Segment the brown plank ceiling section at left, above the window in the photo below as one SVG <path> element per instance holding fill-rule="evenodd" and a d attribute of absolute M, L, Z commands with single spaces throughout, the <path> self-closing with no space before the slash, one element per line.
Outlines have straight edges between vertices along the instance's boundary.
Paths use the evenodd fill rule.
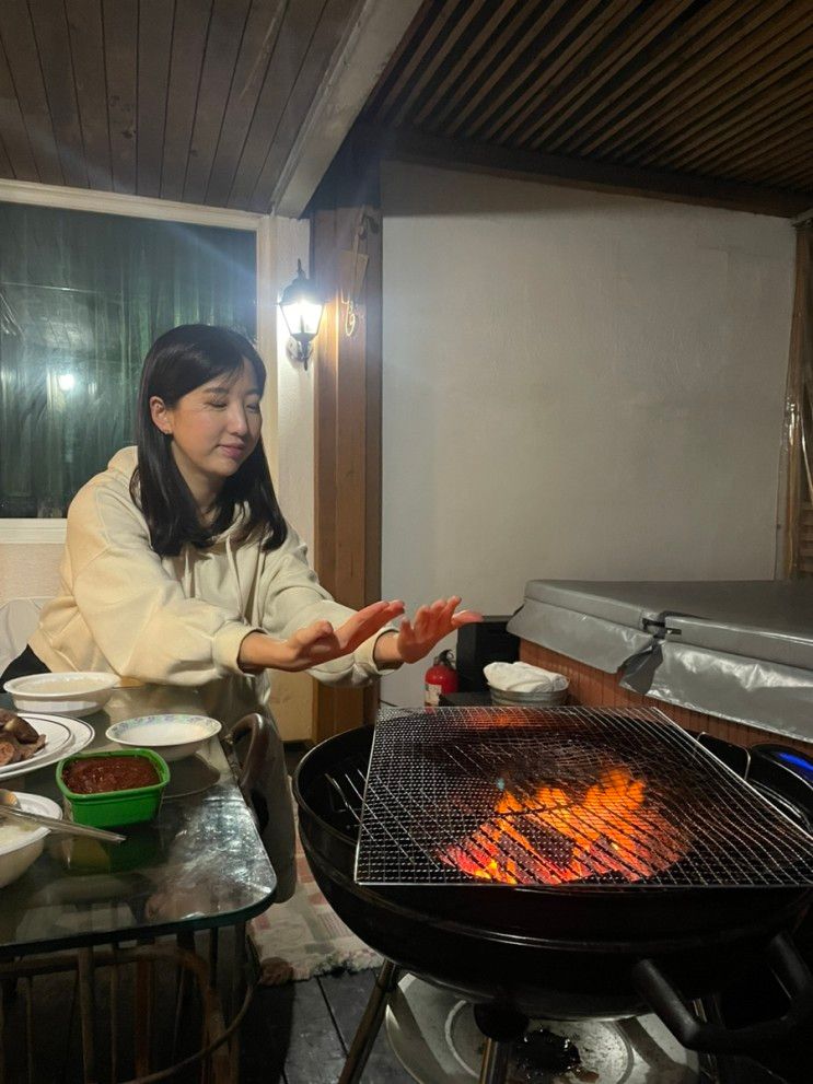
<path fill-rule="evenodd" d="M 0 0 L 0 177 L 268 211 L 358 0 Z"/>

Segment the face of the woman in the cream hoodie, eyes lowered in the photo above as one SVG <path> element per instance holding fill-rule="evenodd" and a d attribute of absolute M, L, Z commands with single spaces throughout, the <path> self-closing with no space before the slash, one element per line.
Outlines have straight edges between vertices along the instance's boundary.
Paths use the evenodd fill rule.
<path fill-rule="evenodd" d="M 175 463 L 200 508 L 211 503 L 256 447 L 263 423 L 259 395 L 254 370 L 244 361 L 236 374 L 201 384 L 174 407 L 158 396 L 150 399 L 152 420 L 172 436 Z"/>

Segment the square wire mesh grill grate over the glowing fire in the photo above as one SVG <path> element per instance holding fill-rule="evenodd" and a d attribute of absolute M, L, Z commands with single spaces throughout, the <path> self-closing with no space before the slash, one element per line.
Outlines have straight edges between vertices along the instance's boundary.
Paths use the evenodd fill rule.
<path fill-rule="evenodd" d="M 657 709 L 382 713 L 356 879 L 813 885 L 813 837 Z"/>

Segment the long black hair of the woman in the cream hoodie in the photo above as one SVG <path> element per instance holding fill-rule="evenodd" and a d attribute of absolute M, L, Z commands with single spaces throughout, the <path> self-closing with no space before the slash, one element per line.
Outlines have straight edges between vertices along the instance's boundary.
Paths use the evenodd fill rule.
<path fill-rule="evenodd" d="M 277 549 L 286 540 L 288 528 L 274 492 L 262 439 L 240 469 L 227 478 L 207 527 L 200 522 L 195 499 L 175 463 L 172 438 L 152 420 L 153 396 L 172 408 L 184 395 L 217 376 L 236 376 L 245 361 L 254 370 L 262 395 L 266 382 L 263 359 L 245 336 L 225 327 L 174 327 L 155 339 L 144 359 L 136 422 L 138 467 L 130 479 L 130 496 L 141 509 L 152 548 L 161 557 L 176 557 L 187 543 L 205 549 L 239 514 L 243 523 L 235 540 L 245 540 L 258 532 L 265 550 Z"/>

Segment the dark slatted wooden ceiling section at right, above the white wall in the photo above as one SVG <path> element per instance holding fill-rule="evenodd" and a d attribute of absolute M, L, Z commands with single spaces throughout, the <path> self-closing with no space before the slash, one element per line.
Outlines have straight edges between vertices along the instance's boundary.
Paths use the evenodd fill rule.
<path fill-rule="evenodd" d="M 813 0 L 429 0 L 370 126 L 813 203 Z"/>

